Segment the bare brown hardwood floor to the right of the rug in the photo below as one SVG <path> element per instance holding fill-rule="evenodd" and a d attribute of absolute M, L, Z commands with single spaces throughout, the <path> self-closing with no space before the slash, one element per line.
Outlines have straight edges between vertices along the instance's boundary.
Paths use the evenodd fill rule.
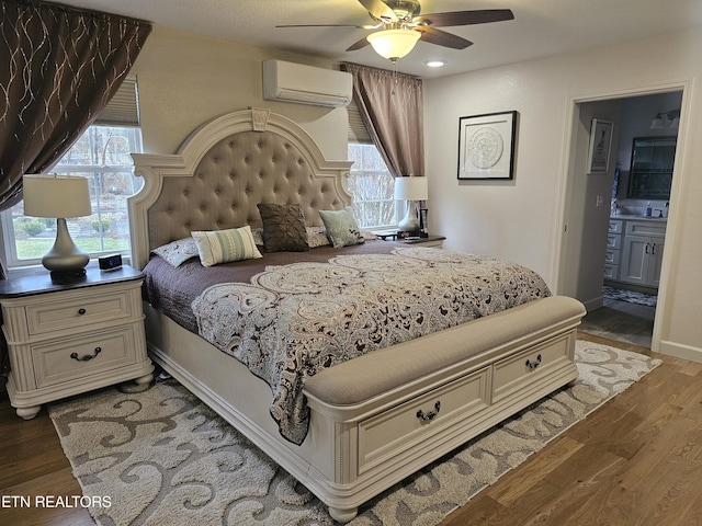
<path fill-rule="evenodd" d="M 442 526 L 701 525 L 702 364 L 656 357 L 664 364 Z"/>

